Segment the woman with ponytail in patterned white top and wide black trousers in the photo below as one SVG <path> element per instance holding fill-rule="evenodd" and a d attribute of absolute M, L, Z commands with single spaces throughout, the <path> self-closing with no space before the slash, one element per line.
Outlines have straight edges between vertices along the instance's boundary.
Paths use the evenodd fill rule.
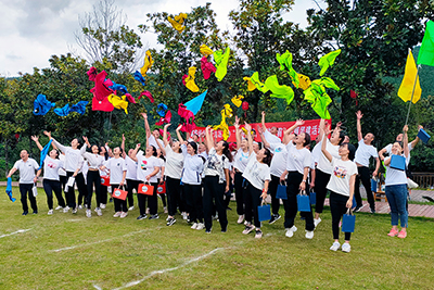
<path fill-rule="evenodd" d="M 225 193 L 229 191 L 229 163 L 232 162 L 232 154 L 229 151 L 229 143 L 225 140 L 214 146 L 213 130 L 205 128 L 206 147 L 209 149 L 208 159 L 204 166 L 204 193 L 203 209 L 205 219 L 205 232 L 210 234 L 213 227 L 213 205 L 215 202 L 216 211 L 220 222 L 221 232 L 228 229 L 228 217 Z"/>

